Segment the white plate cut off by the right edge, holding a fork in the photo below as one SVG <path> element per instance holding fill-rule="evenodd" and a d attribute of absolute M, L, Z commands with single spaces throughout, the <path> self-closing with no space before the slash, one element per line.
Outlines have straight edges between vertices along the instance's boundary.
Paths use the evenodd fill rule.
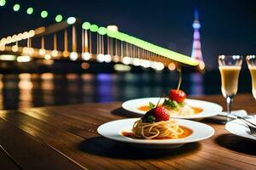
<path fill-rule="evenodd" d="M 256 123 L 255 119 L 247 119 L 248 121 Z M 225 128 L 230 133 L 236 134 L 237 136 L 241 136 L 247 139 L 253 139 L 256 140 L 256 137 L 253 137 L 250 135 L 250 130 L 243 122 L 241 122 L 239 119 L 227 122 L 225 125 Z"/>

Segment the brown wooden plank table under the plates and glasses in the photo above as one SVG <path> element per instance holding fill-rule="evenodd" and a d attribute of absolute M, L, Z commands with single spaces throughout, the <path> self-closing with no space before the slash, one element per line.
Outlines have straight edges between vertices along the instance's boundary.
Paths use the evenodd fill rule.
<path fill-rule="evenodd" d="M 225 106 L 220 95 L 205 99 Z M 104 122 L 135 117 L 120 102 L 0 111 L 0 169 L 256 169 L 256 143 L 206 122 L 210 139 L 173 150 L 143 150 L 104 139 Z M 233 109 L 256 113 L 251 94 L 234 99 Z M 9 155 L 9 156 L 8 156 Z"/>

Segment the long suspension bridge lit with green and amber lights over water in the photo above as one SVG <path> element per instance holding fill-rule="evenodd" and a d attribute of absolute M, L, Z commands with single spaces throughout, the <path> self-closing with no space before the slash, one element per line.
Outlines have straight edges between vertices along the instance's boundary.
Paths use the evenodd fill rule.
<path fill-rule="evenodd" d="M 0 6 L 7 3 L 0 0 Z M 19 10 L 19 4 L 13 9 Z M 27 14 L 32 8 L 27 8 Z M 42 18 L 48 12 L 42 11 Z M 75 17 L 29 31 L 15 33 L 0 39 L 0 60 L 29 62 L 32 59 L 84 60 L 100 63 L 119 63 L 143 66 L 161 71 L 173 71 L 182 66 L 192 66 L 203 71 L 205 64 L 184 54 L 162 48 L 138 37 L 119 31 L 117 26 L 98 26 Z"/>

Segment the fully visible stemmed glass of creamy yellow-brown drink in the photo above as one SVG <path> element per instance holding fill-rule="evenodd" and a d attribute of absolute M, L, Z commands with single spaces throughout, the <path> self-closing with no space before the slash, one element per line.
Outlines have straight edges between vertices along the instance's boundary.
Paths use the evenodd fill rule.
<path fill-rule="evenodd" d="M 231 104 L 238 89 L 238 77 L 241 70 L 242 56 L 219 55 L 218 69 L 221 76 L 221 92 L 227 102 L 228 115 L 231 114 Z M 229 119 L 228 119 L 229 121 Z"/>

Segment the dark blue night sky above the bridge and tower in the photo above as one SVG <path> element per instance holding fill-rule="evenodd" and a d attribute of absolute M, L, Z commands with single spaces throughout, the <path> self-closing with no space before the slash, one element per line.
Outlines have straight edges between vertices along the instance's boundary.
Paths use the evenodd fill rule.
<path fill-rule="evenodd" d="M 192 22 L 198 8 L 201 21 L 201 48 L 207 68 L 217 66 L 218 54 L 256 54 L 256 10 L 253 1 L 189 0 L 36 0 L 7 1 L 0 7 L 0 37 L 55 23 L 55 14 L 75 16 L 99 26 L 116 25 L 119 31 L 191 54 Z M 20 3 L 15 13 L 12 6 Z M 32 6 L 34 14 L 26 14 Z M 48 19 L 40 11 L 48 10 Z"/>

